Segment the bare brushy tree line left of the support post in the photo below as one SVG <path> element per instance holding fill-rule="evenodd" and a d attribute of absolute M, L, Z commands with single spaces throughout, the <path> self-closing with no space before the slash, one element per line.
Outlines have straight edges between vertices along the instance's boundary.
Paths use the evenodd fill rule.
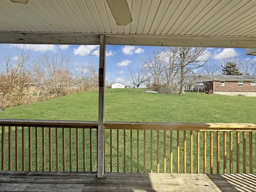
<path fill-rule="evenodd" d="M 1 109 L 98 88 L 98 70 L 93 64 L 80 63 L 74 69 L 65 55 L 36 55 L 29 45 L 8 45 L 1 65 Z"/>

